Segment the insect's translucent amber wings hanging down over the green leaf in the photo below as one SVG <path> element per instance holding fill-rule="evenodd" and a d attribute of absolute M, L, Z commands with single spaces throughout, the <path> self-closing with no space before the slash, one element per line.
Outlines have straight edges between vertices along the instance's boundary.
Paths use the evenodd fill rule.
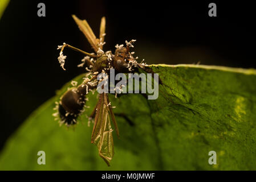
<path fill-rule="evenodd" d="M 116 131 L 118 133 L 115 116 L 113 116 L 112 109 L 108 100 L 108 95 L 105 93 L 100 94 L 99 101 L 96 105 L 96 114 L 94 121 L 94 128 L 92 129 L 92 139 L 91 142 L 96 144 L 99 155 L 104 161 L 108 164 L 112 160 L 114 155 L 114 145 L 113 145 L 113 136 L 111 128 L 111 121 L 109 114 L 111 114 L 111 118 L 115 123 Z M 114 117 L 114 118 L 113 118 Z"/>

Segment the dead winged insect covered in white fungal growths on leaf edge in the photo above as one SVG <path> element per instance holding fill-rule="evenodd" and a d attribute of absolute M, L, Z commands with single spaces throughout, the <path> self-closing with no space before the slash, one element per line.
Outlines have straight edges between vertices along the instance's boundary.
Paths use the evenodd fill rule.
<path fill-rule="evenodd" d="M 94 53 L 84 52 L 81 49 L 70 46 L 69 44 L 63 43 L 62 46 L 58 46 L 60 54 L 58 61 L 60 67 L 64 70 L 64 63 L 67 56 L 63 55 L 64 48 L 71 48 L 75 51 L 81 52 L 85 55 L 82 63 L 78 67 L 86 67 L 86 71 L 89 73 L 91 78 L 84 78 L 82 84 L 77 85 L 73 82 L 73 87 L 68 89 L 61 97 L 60 101 L 56 102 L 56 113 L 54 116 L 59 119 L 60 125 L 66 126 L 75 125 L 79 115 L 83 114 L 84 106 L 86 106 L 86 95 L 88 92 L 97 88 L 97 85 L 102 80 L 97 80 L 97 75 L 100 73 L 109 74 L 109 69 L 113 68 L 119 73 L 131 73 L 135 72 L 138 68 L 143 69 L 146 72 L 151 73 L 150 68 L 145 63 L 137 63 L 136 58 L 133 57 L 134 52 L 130 52 L 133 48 L 133 43 L 136 40 L 130 42 L 125 41 L 126 46 L 121 44 L 116 45 L 115 53 L 111 51 L 103 51 L 104 36 L 105 36 L 105 17 L 101 18 L 100 23 L 100 34 L 99 38 L 96 38 L 91 27 L 86 20 L 80 20 L 75 15 L 72 15 L 76 24 L 86 36 L 90 43 Z M 92 129 L 91 143 L 94 143 L 98 150 L 101 158 L 109 166 L 110 161 L 113 158 L 113 136 L 111 120 L 115 126 L 115 131 L 119 137 L 119 129 L 113 114 L 111 102 L 108 99 L 108 93 L 99 94 L 99 100 L 97 101 L 96 107 L 89 119 L 94 118 L 94 127 Z"/>

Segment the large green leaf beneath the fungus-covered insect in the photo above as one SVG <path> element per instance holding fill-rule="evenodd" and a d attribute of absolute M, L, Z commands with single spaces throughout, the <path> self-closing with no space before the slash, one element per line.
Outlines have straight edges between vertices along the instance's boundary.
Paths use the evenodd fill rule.
<path fill-rule="evenodd" d="M 111 167 L 91 144 L 87 126 L 96 94 L 74 130 L 52 117 L 70 83 L 40 106 L 10 137 L 0 169 L 23 170 L 247 170 L 256 169 L 256 71 L 205 65 L 152 65 L 162 85 L 159 98 L 109 95 L 120 139 L 114 135 Z M 83 75 L 74 80 L 81 82 Z M 125 116 L 122 117 L 121 115 Z M 127 121 L 128 118 L 129 122 Z M 133 125 L 131 125 L 131 123 Z M 38 165 L 38 151 L 46 165 Z M 216 151 L 217 165 L 210 165 Z"/>

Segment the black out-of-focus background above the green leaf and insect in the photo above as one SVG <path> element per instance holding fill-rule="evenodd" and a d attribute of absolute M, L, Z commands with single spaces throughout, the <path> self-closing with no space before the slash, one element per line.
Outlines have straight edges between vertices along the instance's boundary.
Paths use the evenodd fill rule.
<path fill-rule="evenodd" d="M 37 16 L 39 2 L 46 17 Z M 57 60 L 63 42 L 92 52 L 71 14 L 87 19 L 96 36 L 106 16 L 104 50 L 137 39 L 136 56 L 148 64 L 256 68 L 254 6 L 213 2 L 217 17 L 208 16 L 210 1 L 11 1 L 0 20 L 0 149 L 36 107 L 83 73 L 80 53 L 65 49 L 67 71 Z"/>

